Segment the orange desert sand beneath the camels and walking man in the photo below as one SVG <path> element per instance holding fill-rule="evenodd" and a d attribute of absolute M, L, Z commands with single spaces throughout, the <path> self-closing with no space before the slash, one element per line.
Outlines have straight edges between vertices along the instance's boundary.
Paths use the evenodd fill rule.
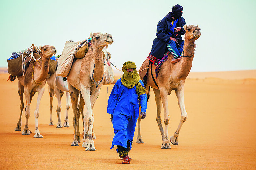
<path fill-rule="evenodd" d="M 40 104 L 39 130 L 43 138 L 33 138 L 34 110 L 37 93 L 31 103 L 29 128 L 31 135 L 14 131 L 19 119 L 18 80 L 7 81 L 8 73 L 0 74 L 0 169 L 256 169 L 256 71 L 190 73 L 186 80 L 185 106 L 188 119 L 184 123 L 179 145 L 160 149 L 161 135 L 156 123 L 153 90 L 141 133 L 144 144 L 137 144 L 137 129 L 129 156 L 131 164 L 121 164 L 115 149 L 110 149 L 114 135 L 107 114 L 107 94 L 113 84 L 102 86 L 94 107 L 94 140 L 96 151 L 86 152 L 73 141 L 73 111 L 69 112 L 69 128 L 55 128 L 57 100 L 53 103 L 53 122 L 49 126 L 50 101 L 48 86 Z M 169 137 L 180 120 L 175 92 L 168 96 Z M 65 95 L 61 121 L 64 123 Z M 163 110 L 163 109 L 162 109 Z M 163 112 L 163 111 L 162 111 Z M 163 117 L 163 113 L 162 113 Z M 162 118 L 163 120 L 163 118 Z M 82 122 L 80 120 L 80 132 Z"/>

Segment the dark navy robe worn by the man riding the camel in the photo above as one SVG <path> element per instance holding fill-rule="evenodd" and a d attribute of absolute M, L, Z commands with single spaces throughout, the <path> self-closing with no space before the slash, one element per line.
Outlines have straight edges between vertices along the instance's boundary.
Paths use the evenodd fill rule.
<path fill-rule="evenodd" d="M 185 24 L 186 24 L 185 19 L 183 17 L 179 17 L 176 27 L 181 27 L 181 30 L 179 31 L 181 35 L 185 34 L 185 30 L 183 28 Z M 155 40 L 153 41 L 153 45 L 151 49 L 152 56 L 160 59 L 164 57 L 164 52 L 166 51 L 167 43 L 171 37 L 167 32 L 168 29 L 170 28 L 171 28 L 171 21 L 167 20 L 166 17 L 164 17 L 161 21 L 158 22 L 157 28 L 156 28 L 157 38 L 155 38 Z M 182 40 L 181 35 L 178 38 Z"/>

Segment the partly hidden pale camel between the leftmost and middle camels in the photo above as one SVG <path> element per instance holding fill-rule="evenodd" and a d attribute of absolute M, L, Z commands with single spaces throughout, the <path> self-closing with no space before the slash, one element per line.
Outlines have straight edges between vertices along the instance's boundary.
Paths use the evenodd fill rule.
<path fill-rule="evenodd" d="M 57 100 L 58 100 L 58 106 L 57 106 L 57 117 L 58 117 L 58 123 L 56 128 L 62 128 L 61 125 L 61 98 L 66 92 L 66 111 L 65 111 L 65 120 L 64 120 L 64 127 L 69 127 L 68 123 L 68 111 L 70 108 L 70 95 L 68 91 L 67 81 L 63 81 L 63 78 L 56 75 L 56 70 L 53 74 L 49 74 L 47 77 L 47 84 L 48 84 L 48 91 L 50 96 L 50 123 L 49 125 L 53 125 L 52 121 L 52 100 L 54 94 L 56 94 Z"/>

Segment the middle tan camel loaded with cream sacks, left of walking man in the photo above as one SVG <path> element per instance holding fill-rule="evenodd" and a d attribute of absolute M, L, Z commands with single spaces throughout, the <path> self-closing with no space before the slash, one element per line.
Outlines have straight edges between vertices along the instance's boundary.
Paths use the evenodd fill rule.
<path fill-rule="evenodd" d="M 113 43 L 112 36 L 108 33 L 91 33 L 91 44 L 86 55 L 81 59 L 75 59 L 67 76 L 68 89 L 74 113 L 74 141 L 71 146 L 79 146 L 79 118 L 80 112 L 86 105 L 87 112 L 84 115 L 83 145 L 86 151 L 95 151 L 93 141 L 93 105 L 100 93 L 104 82 L 104 55 L 102 49 Z M 75 56 L 76 58 L 76 56 Z M 78 105 L 78 97 L 80 102 Z"/>

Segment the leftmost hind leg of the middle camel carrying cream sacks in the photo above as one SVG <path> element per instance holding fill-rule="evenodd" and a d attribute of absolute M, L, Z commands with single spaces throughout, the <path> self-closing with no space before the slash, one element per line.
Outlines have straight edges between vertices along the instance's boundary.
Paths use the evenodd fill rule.
<path fill-rule="evenodd" d="M 78 104 L 78 95 L 79 92 L 76 88 L 74 88 L 72 85 L 68 83 L 68 89 L 73 109 L 73 126 L 74 126 L 74 141 L 71 143 L 71 146 L 79 146 L 77 141 L 77 125 L 79 122 L 77 122 L 77 104 Z"/>

